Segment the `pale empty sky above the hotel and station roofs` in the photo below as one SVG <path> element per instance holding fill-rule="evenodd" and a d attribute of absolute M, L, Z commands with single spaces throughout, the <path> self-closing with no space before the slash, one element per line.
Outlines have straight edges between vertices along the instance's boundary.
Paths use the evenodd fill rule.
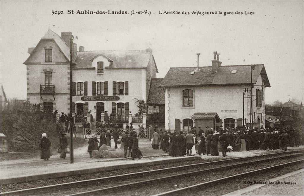
<path fill-rule="evenodd" d="M 151 15 L 131 15 L 132 10 Z M 1 1 L 0 15 L 0 80 L 8 98 L 26 99 L 27 49 L 50 28 L 58 35 L 72 32 L 78 36 L 74 42 L 85 50 L 152 48 L 157 77 L 164 77 L 170 67 L 196 66 L 196 53 L 201 53 L 200 66 L 211 66 L 213 51 L 220 53 L 223 66 L 264 64 L 271 84 L 265 90 L 266 104 L 303 100 L 303 1 Z"/>

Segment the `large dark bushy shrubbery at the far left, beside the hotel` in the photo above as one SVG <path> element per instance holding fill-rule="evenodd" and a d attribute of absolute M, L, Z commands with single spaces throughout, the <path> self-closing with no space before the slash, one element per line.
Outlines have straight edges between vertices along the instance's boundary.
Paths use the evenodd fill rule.
<path fill-rule="evenodd" d="M 24 103 L 10 102 L 1 111 L 1 133 L 7 136 L 9 151 L 32 151 L 39 149 L 42 133 L 46 133 L 51 141 L 51 151 L 59 146 L 60 132 L 63 130 L 56 124 L 52 113 L 33 109 Z"/>

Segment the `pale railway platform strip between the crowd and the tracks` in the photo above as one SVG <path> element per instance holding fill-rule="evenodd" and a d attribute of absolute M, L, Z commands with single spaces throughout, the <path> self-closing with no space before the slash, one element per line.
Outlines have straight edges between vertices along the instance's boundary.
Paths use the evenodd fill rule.
<path fill-rule="evenodd" d="M 303 146 L 300 147 L 291 147 L 290 150 L 296 149 L 303 149 Z M 150 150 L 150 149 L 149 149 Z M 153 149 L 152 149 L 153 150 Z M 209 161 L 215 160 L 223 160 L 223 159 L 230 159 L 230 158 L 237 158 L 237 157 L 246 157 L 246 156 L 255 156 L 255 155 L 263 155 L 268 153 L 274 152 L 283 152 L 282 150 L 250 150 L 244 152 L 231 152 L 227 153 L 226 157 L 221 156 L 190 156 L 190 157 L 171 157 L 168 154 L 162 153 L 162 150 L 154 150 L 155 153 L 150 153 L 149 155 L 146 154 L 140 160 L 132 160 L 132 159 L 125 159 L 125 158 L 112 158 L 112 159 L 92 159 L 88 157 L 88 153 L 85 153 L 85 158 L 81 158 L 82 160 L 86 161 L 75 161 L 73 164 L 69 164 L 69 157 L 63 161 L 60 160 L 59 155 L 51 157 L 53 162 L 44 161 L 41 159 L 30 159 L 30 160 L 11 160 L 11 161 L 2 161 L 1 165 L 1 173 L 0 173 L 0 180 L 6 181 L 9 179 L 24 179 L 31 180 L 31 177 L 38 177 L 45 176 L 46 178 L 57 177 L 60 175 L 68 176 L 68 175 L 77 175 L 80 174 L 81 171 L 83 174 L 84 172 L 92 172 L 92 170 L 96 170 L 99 168 L 100 171 L 102 170 L 112 170 L 118 168 L 126 168 L 126 167 L 136 167 L 136 165 L 153 165 L 154 163 L 165 163 L 178 161 L 180 159 L 206 159 Z M 60 161 L 56 161 L 60 160 Z M 76 159 L 77 160 L 77 159 Z M 33 178 L 35 179 L 35 178 Z"/>

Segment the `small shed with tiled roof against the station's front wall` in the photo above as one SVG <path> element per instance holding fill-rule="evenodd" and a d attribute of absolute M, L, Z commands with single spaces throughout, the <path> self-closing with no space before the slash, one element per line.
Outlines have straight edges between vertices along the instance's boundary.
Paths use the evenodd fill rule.
<path fill-rule="evenodd" d="M 217 127 L 222 124 L 216 112 L 197 112 L 194 113 L 191 118 L 194 119 L 195 126 L 201 127 L 202 129 L 209 126 L 213 128 L 213 130 L 216 130 Z"/>

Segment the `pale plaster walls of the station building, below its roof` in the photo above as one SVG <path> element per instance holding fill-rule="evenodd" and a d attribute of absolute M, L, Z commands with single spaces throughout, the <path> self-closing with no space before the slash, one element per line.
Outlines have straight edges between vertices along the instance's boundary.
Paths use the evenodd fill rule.
<path fill-rule="evenodd" d="M 257 79 L 257 83 L 252 88 L 253 96 L 253 126 L 263 126 L 264 120 L 262 113 L 264 114 L 264 83 L 261 75 Z M 183 119 L 191 119 L 195 112 L 217 112 L 219 118 L 224 125 L 224 119 L 235 119 L 235 127 L 237 126 L 237 119 L 243 118 L 243 92 L 248 88 L 250 91 L 250 85 L 210 85 L 210 86 L 189 86 L 189 87 L 166 87 L 165 89 L 165 128 L 174 129 L 175 119 L 179 119 L 181 124 L 180 128 L 183 129 Z M 262 105 L 256 107 L 255 104 L 255 89 L 260 89 L 263 92 Z M 182 106 L 182 91 L 186 89 L 193 90 L 193 106 Z M 247 97 L 247 98 L 246 98 Z M 226 110 L 224 112 L 223 110 Z M 227 110 L 234 110 L 233 112 L 227 112 Z M 236 110 L 236 112 L 235 112 Z M 222 112 L 223 111 L 223 112 Z M 256 112 L 254 115 L 254 112 Z M 263 116 L 264 117 L 264 116 Z M 247 123 L 250 123 L 250 93 L 245 94 L 244 103 L 244 118 L 247 119 Z M 257 124 L 260 120 L 259 125 Z M 245 124 L 245 123 L 244 123 Z M 193 126 L 195 121 L 193 120 Z M 225 127 L 224 127 L 225 128 Z"/>

